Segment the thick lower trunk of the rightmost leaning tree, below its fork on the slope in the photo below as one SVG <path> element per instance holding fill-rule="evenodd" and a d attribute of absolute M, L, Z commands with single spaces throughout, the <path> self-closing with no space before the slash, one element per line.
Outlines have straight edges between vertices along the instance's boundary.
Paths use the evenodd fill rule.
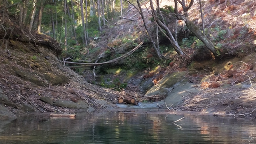
<path fill-rule="evenodd" d="M 216 50 L 214 48 L 214 44 L 200 31 L 200 29 L 190 20 L 188 20 L 188 18 L 186 19 L 186 26 L 188 27 L 188 29 L 194 34 L 196 35 L 196 37 L 201 40 L 204 45 L 213 53 L 216 54 Z"/>

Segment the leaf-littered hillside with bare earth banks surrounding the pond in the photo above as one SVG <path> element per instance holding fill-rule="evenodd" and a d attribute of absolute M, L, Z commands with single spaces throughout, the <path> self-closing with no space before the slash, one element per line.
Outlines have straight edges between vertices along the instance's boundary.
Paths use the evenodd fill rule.
<path fill-rule="evenodd" d="M 142 2 L 148 34 L 159 45 L 161 59 L 148 38 L 136 2 L 132 4 L 124 4 L 122 16 L 119 13 L 108 16 L 102 30 L 95 26 L 96 15 L 90 17 L 89 32 L 92 30 L 94 35 L 88 34 L 87 46 L 82 36 L 77 37 L 79 44 L 75 44 L 73 31 L 70 39 L 65 38 L 70 33 L 64 31 L 54 39 L 50 25 L 46 25 L 47 12 L 42 24 L 43 30 L 49 32 L 43 34 L 27 30 L 25 25 L 21 27 L 18 14 L 9 14 L 7 12 L 14 10 L 0 6 L 0 110 L 14 114 L 72 114 L 76 109 L 93 111 L 116 107 L 118 98 L 128 96 L 136 99 L 136 103 L 159 102 L 154 103 L 156 108 L 167 106 L 174 110 L 254 116 L 255 2 L 202 1 L 204 32 L 214 44 L 216 54 L 206 48 L 186 23 L 163 16 L 188 56 L 177 54 L 165 32 L 156 29 L 150 3 Z M 162 1 L 160 4 L 164 10 L 170 6 L 174 7 L 174 3 Z M 178 12 L 183 14 L 180 5 Z M 77 17 L 80 18 L 79 14 Z M 201 29 L 198 1 L 188 10 L 188 19 Z M 62 28 L 63 22 L 62 19 Z M 82 33 L 80 28 L 81 25 L 76 30 Z M 66 40 L 68 46 L 62 40 Z M 134 53 L 116 62 L 82 67 L 72 64 L 107 62 L 124 56 L 141 42 L 143 45 Z M 0 115 L 0 119 L 12 117 L 8 114 Z"/>

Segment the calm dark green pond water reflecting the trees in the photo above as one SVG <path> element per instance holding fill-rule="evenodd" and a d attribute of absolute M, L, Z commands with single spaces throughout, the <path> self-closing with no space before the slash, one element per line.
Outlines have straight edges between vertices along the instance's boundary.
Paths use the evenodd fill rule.
<path fill-rule="evenodd" d="M 26 116 L 4 126 L 0 144 L 253 144 L 255 124 L 245 118 L 158 110 L 97 112 L 76 119 Z"/>

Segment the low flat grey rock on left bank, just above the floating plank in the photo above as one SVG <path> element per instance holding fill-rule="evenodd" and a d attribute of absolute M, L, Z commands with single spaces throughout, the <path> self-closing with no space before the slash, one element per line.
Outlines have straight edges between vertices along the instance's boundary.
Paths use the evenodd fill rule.
<path fill-rule="evenodd" d="M 82 100 L 79 100 L 78 103 L 69 101 L 69 100 L 56 100 L 53 101 L 53 104 L 56 106 L 61 106 L 64 108 L 77 108 L 77 109 L 88 109 L 89 106 L 86 102 L 82 102 Z"/>

